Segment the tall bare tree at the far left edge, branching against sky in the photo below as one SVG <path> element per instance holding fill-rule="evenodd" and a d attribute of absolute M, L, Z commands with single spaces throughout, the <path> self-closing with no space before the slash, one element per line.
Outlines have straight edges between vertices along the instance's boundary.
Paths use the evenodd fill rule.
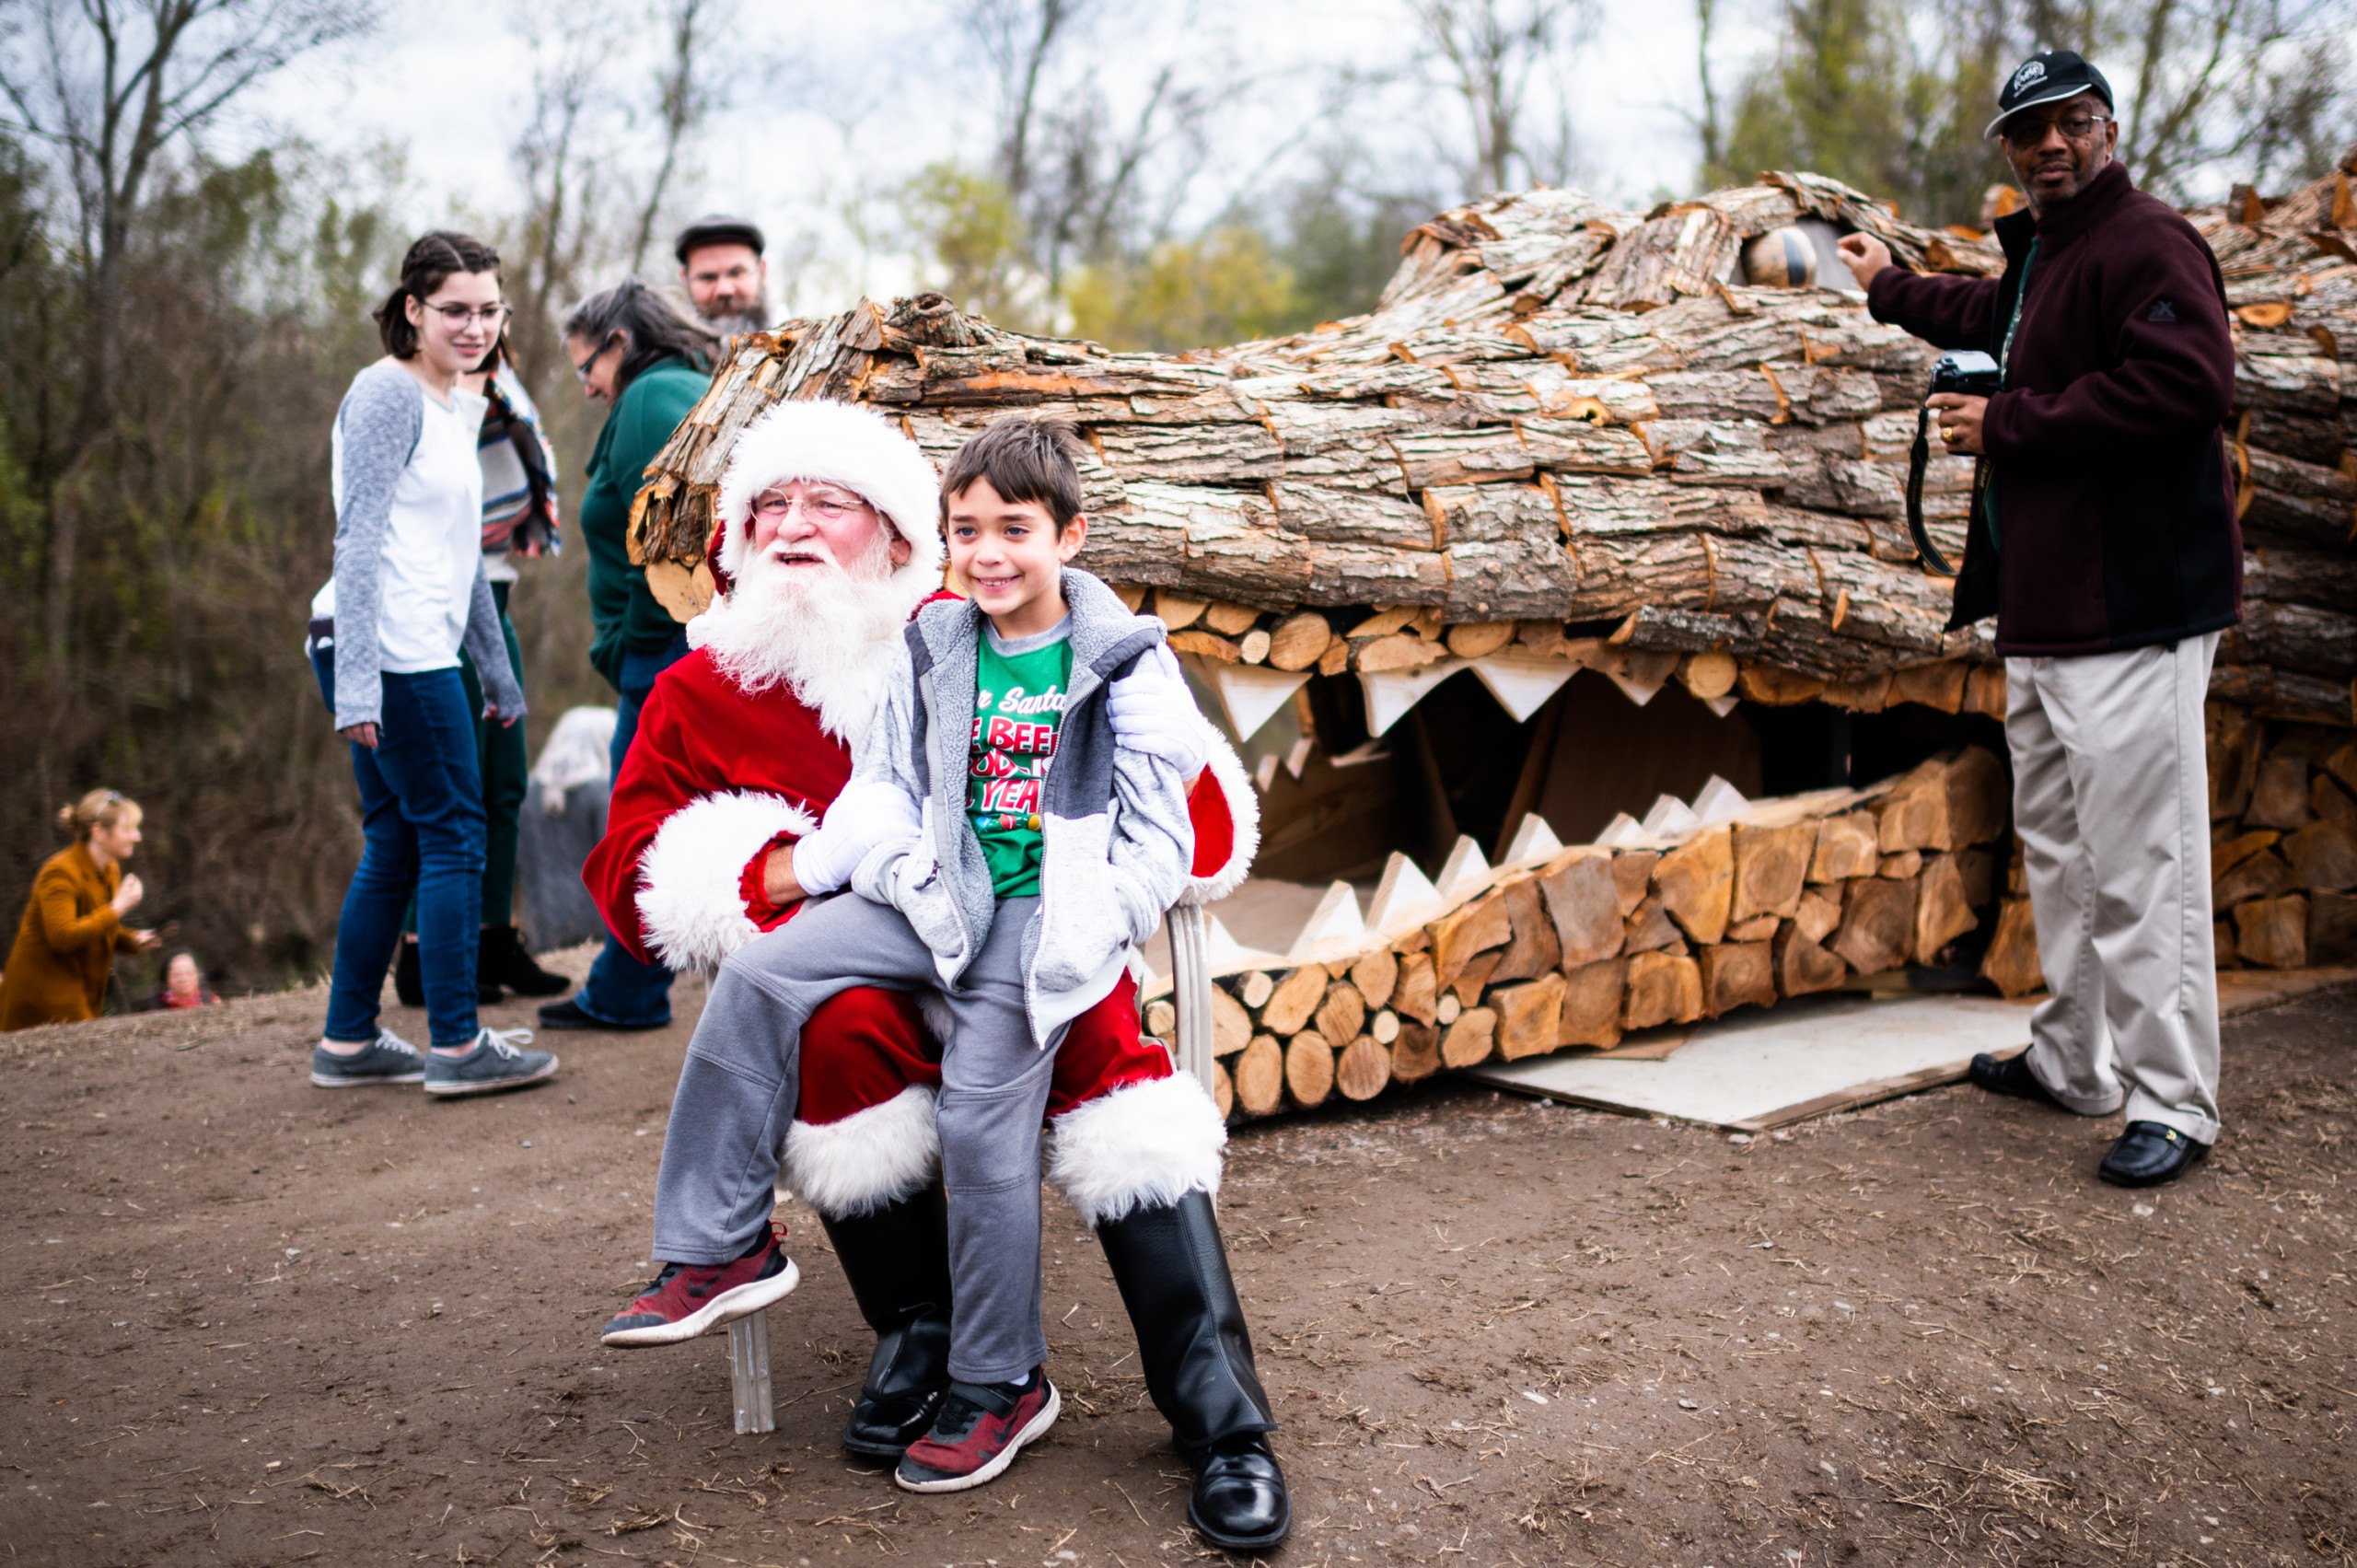
<path fill-rule="evenodd" d="M 240 94 L 375 21 L 370 0 L 31 0 L 0 31 L 9 130 L 47 146 L 73 198 L 80 271 L 75 410 L 54 467 L 47 651 L 73 625 L 78 502 L 71 479 L 115 427 L 125 257 L 158 163 Z"/>

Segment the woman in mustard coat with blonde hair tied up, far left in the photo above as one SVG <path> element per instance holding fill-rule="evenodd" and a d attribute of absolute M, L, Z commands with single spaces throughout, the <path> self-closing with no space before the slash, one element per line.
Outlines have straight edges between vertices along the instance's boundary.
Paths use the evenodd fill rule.
<path fill-rule="evenodd" d="M 33 877 L 16 946 L 0 974 L 0 1033 L 97 1019 L 115 953 L 158 946 L 153 931 L 123 924 L 146 891 L 139 877 L 123 875 L 139 844 L 139 804 L 92 790 L 59 811 L 57 825 L 73 830 L 73 844 Z"/>

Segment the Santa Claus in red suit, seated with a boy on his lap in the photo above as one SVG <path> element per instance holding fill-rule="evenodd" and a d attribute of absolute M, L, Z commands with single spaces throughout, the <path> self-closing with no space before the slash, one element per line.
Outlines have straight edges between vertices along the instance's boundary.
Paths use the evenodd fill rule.
<path fill-rule="evenodd" d="M 780 498 L 794 505 L 754 549 L 764 498 L 773 514 Z M 851 778 L 893 639 L 943 580 L 933 467 L 865 408 L 797 401 L 761 415 L 735 443 L 719 516 L 709 559 L 724 592 L 688 622 L 688 658 L 639 714 L 606 839 L 585 868 L 625 946 L 702 971 L 801 908 L 797 856 L 813 884 L 832 884 L 813 863 L 856 858 L 820 818 Z M 1235 755 L 1174 665 L 1143 663 L 1115 684 L 1110 710 L 1122 745 L 1202 771 L 1186 898 L 1228 894 L 1259 842 Z M 940 1045 L 910 995 L 846 990 L 801 1033 L 780 1179 L 818 1212 L 877 1332 L 844 1427 L 844 1445 L 863 1455 L 898 1457 L 950 1384 L 938 1085 Z M 1058 1047 L 1049 1129 L 1049 1181 L 1103 1243 L 1148 1391 L 1195 1469 L 1190 1521 L 1219 1547 L 1275 1544 L 1289 1526 L 1266 1438 L 1275 1422 L 1211 1210 L 1226 1127 L 1164 1047 L 1138 1037 L 1131 979 Z M 667 1261 L 606 1342 L 674 1344 L 775 1302 L 794 1266 L 766 1233 L 761 1243 L 735 1261 Z"/>

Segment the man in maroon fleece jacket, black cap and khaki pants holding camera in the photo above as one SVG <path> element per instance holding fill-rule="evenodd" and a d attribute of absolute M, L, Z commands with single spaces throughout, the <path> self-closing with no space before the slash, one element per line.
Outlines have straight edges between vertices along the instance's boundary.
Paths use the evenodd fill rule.
<path fill-rule="evenodd" d="M 1916 276 L 1853 233 L 1876 321 L 1985 349 L 2001 391 L 1930 398 L 1975 493 L 1952 627 L 1996 613 L 2013 825 L 2053 1000 L 2029 1052 L 1973 1082 L 2128 1113 L 2100 1174 L 2180 1177 L 2218 1139 L 2201 698 L 2242 620 L 2223 420 L 2225 285 L 2192 224 L 2114 160 L 2112 87 L 2067 50 L 2027 59 L 1989 134 L 2029 193 L 2001 278 Z"/>

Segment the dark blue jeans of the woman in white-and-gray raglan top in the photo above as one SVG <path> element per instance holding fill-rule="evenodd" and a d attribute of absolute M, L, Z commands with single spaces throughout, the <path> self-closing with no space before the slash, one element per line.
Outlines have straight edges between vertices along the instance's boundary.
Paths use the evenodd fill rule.
<path fill-rule="evenodd" d="M 313 653 L 311 667 L 335 712 L 335 651 Z M 351 747 L 361 863 L 335 927 L 325 1035 L 339 1042 L 377 1037 L 384 969 L 415 894 L 427 1030 L 434 1045 L 467 1049 L 476 1037 L 474 962 L 483 924 L 483 773 L 474 712 L 457 667 L 382 679 L 377 750 Z"/>

